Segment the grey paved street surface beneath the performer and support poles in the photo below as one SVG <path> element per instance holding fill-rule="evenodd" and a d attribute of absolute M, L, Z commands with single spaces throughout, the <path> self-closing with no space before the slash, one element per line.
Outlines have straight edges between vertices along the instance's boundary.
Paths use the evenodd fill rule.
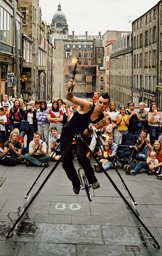
<path fill-rule="evenodd" d="M 45 169 L 33 194 L 53 165 L 50 162 Z M 78 166 L 76 160 L 75 165 Z M 125 175 L 120 165 L 119 170 L 144 222 L 162 244 L 162 182 L 145 173 Z M 145 232 L 139 229 L 139 223 L 105 174 L 96 174 L 101 188 L 91 189 L 89 202 L 85 191 L 79 196 L 74 194 L 61 164 L 25 214 L 17 234 L 6 241 L 6 233 L 25 202 L 24 195 L 40 171 L 41 168 L 25 165 L 0 166 L 1 183 L 4 182 L 0 188 L 0 256 L 161 255 L 161 250 L 148 243 Z M 115 170 L 109 170 L 109 174 L 127 197 Z"/>

